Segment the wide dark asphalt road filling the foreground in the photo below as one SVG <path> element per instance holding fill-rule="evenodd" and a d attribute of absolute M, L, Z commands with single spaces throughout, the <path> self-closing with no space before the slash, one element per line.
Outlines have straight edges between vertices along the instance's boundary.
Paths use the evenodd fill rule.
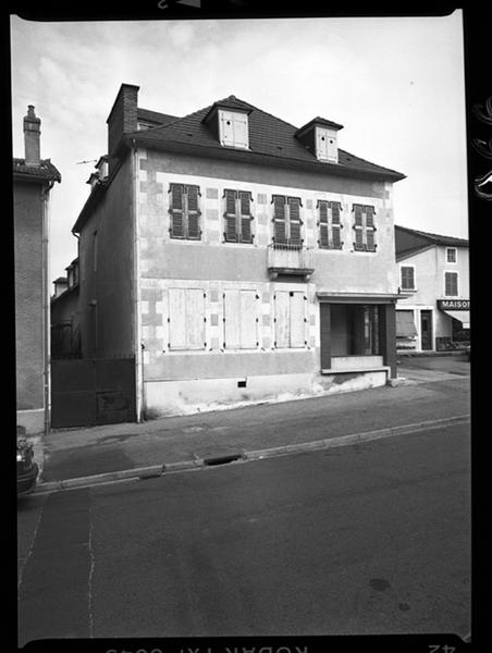
<path fill-rule="evenodd" d="M 37 638 L 470 630 L 469 427 L 19 502 Z"/>

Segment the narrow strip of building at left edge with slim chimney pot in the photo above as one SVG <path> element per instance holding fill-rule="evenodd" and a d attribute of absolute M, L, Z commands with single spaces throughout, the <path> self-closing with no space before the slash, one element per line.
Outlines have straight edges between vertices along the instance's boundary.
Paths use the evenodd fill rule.
<path fill-rule="evenodd" d="M 25 158 L 13 159 L 17 426 L 49 427 L 48 199 L 60 173 L 40 159 L 40 120 L 24 118 Z"/>

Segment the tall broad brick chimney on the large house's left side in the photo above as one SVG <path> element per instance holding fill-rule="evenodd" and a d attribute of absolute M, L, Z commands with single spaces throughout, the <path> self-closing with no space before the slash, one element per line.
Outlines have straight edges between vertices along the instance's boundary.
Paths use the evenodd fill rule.
<path fill-rule="evenodd" d="M 124 134 L 137 131 L 139 86 L 122 84 L 108 120 L 109 173 L 118 162 L 119 147 Z"/>

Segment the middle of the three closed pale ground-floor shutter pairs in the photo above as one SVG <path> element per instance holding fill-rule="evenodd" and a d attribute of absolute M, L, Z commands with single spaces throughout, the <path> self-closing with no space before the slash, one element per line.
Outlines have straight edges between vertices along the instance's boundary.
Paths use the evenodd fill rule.
<path fill-rule="evenodd" d="M 227 289 L 224 300 L 224 349 L 256 349 L 258 342 L 256 291 Z"/>

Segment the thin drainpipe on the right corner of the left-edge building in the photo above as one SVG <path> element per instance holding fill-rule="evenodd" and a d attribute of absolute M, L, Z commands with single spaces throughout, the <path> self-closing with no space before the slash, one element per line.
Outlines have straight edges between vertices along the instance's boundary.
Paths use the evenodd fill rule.
<path fill-rule="evenodd" d="M 48 201 L 49 193 L 54 186 L 54 182 L 49 182 L 47 186 L 41 189 L 41 202 L 42 202 L 42 335 L 44 335 L 44 349 L 45 349 L 45 365 L 44 365 L 44 396 L 45 396 L 45 441 L 50 432 L 51 423 L 51 324 L 50 324 L 50 296 L 49 296 L 49 221 L 48 221 Z"/>

